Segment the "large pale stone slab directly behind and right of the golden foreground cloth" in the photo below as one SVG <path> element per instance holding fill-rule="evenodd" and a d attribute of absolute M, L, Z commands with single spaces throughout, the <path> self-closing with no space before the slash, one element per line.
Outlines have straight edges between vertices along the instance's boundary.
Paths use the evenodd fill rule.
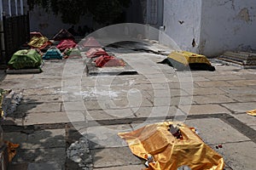
<path fill-rule="evenodd" d="M 196 127 L 206 144 L 224 144 L 250 140 L 218 118 L 186 120 L 185 123 L 188 126 Z"/>

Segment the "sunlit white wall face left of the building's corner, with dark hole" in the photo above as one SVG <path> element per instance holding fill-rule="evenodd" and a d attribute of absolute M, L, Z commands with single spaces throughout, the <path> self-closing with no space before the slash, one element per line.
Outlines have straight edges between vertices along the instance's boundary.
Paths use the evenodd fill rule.
<path fill-rule="evenodd" d="M 198 53 L 201 39 L 201 0 L 165 0 L 163 15 L 164 32 L 181 49 Z"/>

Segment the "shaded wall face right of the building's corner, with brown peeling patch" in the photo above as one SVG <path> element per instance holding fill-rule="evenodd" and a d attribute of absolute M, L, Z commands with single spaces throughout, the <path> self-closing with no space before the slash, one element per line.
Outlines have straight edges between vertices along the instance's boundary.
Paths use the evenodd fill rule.
<path fill-rule="evenodd" d="M 201 12 L 201 54 L 256 49 L 255 0 L 203 0 Z"/>

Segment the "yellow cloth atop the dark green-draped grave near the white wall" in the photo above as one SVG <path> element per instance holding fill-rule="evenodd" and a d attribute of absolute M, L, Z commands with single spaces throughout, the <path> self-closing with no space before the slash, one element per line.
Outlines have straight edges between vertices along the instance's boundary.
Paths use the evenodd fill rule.
<path fill-rule="evenodd" d="M 190 53 L 187 51 L 172 52 L 171 54 L 168 55 L 168 58 L 174 59 L 177 62 L 182 63 L 183 65 L 189 65 L 194 63 L 201 63 L 201 64 L 204 63 L 207 65 L 211 65 L 211 63 L 209 62 L 206 56 L 201 54 Z"/>

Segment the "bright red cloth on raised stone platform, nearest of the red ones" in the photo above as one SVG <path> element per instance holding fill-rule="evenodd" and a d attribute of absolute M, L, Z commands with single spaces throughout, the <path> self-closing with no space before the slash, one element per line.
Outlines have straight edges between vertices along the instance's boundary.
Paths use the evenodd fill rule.
<path fill-rule="evenodd" d="M 97 67 L 104 66 L 125 66 L 125 62 L 122 59 L 116 59 L 113 56 L 102 55 L 95 60 Z"/>

